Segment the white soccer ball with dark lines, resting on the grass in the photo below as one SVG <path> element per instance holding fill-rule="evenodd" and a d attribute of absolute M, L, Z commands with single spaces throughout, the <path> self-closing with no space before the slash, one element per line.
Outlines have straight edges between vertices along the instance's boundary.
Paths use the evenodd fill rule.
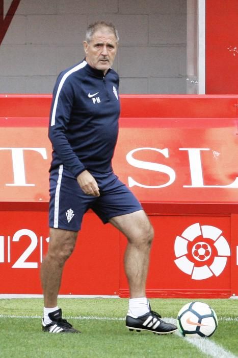
<path fill-rule="evenodd" d="M 202 302 L 189 302 L 178 312 L 177 327 L 183 336 L 210 337 L 217 329 L 213 308 Z"/>

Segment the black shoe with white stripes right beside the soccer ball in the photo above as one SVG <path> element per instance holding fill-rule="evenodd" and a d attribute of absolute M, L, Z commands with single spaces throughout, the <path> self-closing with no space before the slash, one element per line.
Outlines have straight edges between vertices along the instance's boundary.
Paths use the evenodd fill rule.
<path fill-rule="evenodd" d="M 161 315 L 151 310 L 147 314 L 139 317 L 134 316 L 128 311 L 125 324 L 130 331 L 135 329 L 137 332 L 145 330 L 157 334 L 168 334 L 177 330 L 174 324 L 166 323 L 161 319 Z"/>

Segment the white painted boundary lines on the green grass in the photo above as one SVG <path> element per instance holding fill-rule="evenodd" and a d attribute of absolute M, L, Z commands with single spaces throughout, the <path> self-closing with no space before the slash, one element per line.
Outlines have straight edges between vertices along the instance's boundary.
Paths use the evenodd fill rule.
<path fill-rule="evenodd" d="M 15 315 L 0 315 L 0 318 L 19 318 L 19 319 L 32 319 L 37 318 L 41 319 L 41 316 L 15 316 Z M 95 317 L 95 316 L 77 316 L 77 317 L 66 317 L 67 319 L 74 320 L 100 320 L 100 321 L 124 321 L 125 318 L 112 318 L 112 317 Z M 165 321 L 176 324 L 174 318 L 164 318 Z M 219 321 L 234 321 L 237 322 L 237 318 L 222 318 Z M 236 355 L 232 354 L 228 350 L 219 346 L 209 339 L 203 338 L 183 338 L 179 332 L 175 332 L 181 339 L 185 339 L 189 344 L 198 348 L 201 352 L 206 354 L 206 356 L 219 357 L 219 358 L 237 358 Z"/>

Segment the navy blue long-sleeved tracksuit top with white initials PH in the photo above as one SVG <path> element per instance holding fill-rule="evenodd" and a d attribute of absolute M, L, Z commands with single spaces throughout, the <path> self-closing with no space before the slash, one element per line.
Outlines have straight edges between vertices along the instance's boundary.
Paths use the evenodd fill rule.
<path fill-rule="evenodd" d="M 118 137 L 119 77 L 85 60 L 63 71 L 53 92 L 49 121 L 50 170 L 63 164 L 77 177 L 85 169 L 112 171 Z"/>

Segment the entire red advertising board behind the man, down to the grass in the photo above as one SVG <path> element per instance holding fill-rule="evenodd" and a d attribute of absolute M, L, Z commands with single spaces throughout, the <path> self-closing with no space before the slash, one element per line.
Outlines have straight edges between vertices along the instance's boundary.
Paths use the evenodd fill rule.
<path fill-rule="evenodd" d="M 0 294 L 42 292 L 50 100 L 0 96 Z M 113 165 L 155 229 L 148 296 L 238 295 L 237 96 L 124 95 L 121 105 Z M 87 213 L 60 294 L 128 296 L 125 245 Z"/>

